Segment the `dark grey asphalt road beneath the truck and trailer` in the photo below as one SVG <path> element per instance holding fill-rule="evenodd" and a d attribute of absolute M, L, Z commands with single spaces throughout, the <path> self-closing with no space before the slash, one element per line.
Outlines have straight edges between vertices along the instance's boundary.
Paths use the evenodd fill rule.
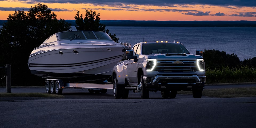
<path fill-rule="evenodd" d="M 209 86 L 208 89 L 210 88 L 212 87 Z M 43 87 L 11 89 L 12 93 L 29 93 L 35 90 L 45 93 Z M 5 88 L 0 88 L 0 93 L 2 92 L 5 92 Z M 194 99 L 192 95 L 177 94 L 175 99 L 162 99 L 158 91 L 150 92 L 150 99 L 140 99 L 139 93 L 130 91 L 128 99 L 114 99 L 111 89 L 106 94 L 64 89 L 63 95 L 65 98 L 62 99 L 0 98 L 0 128 L 256 125 L 256 97 Z"/>

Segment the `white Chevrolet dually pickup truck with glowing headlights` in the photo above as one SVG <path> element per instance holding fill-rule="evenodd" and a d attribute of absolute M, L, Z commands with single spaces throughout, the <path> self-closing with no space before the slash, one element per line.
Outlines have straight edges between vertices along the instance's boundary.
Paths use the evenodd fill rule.
<path fill-rule="evenodd" d="M 141 42 L 126 50 L 125 58 L 113 68 L 113 88 L 116 99 L 128 98 L 129 91 L 161 91 L 163 98 L 175 98 L 177 91 L 192 91 L 194 98 L 202 97 L 205 63 L 203 51 L 191 54 L 179 42 Z"/>

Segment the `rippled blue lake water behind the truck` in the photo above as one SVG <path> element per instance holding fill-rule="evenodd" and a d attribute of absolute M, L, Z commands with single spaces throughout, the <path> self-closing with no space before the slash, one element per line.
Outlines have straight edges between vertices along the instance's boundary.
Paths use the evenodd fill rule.
<path fill-rule="evenodd" d="M 0 26 L 2 27 L 2 26 Z M 73 30 L 75 26 L 72 26 Z M 240 61 L 256 57 L 255 27 L 120 27 L 107 26 L 111 34 L 116 34 L 119 42 L 135 43 L 143 41 L 178 41 L 190 53 L 195 50 L 215 49 L 228 54 L 236 54 Z"/>

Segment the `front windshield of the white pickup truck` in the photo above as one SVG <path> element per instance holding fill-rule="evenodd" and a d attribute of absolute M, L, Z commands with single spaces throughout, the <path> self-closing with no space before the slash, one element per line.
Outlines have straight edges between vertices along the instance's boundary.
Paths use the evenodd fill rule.
<path fill-rule="evenodd" d="M 152 53 L 188 53 L 184 45 L 181 43 L 149 43 L 143 44 L 143 54 Z"/>

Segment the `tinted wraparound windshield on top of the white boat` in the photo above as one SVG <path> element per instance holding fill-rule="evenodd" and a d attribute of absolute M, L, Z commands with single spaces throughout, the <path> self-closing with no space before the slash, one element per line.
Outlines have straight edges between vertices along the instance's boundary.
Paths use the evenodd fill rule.
<path fill-rule="evenodd" d="M 102 31 L 65 31 L 57 33 L 58 40 L 63 39 L 95 39 L 113 41 L 109 35 Z"/>

